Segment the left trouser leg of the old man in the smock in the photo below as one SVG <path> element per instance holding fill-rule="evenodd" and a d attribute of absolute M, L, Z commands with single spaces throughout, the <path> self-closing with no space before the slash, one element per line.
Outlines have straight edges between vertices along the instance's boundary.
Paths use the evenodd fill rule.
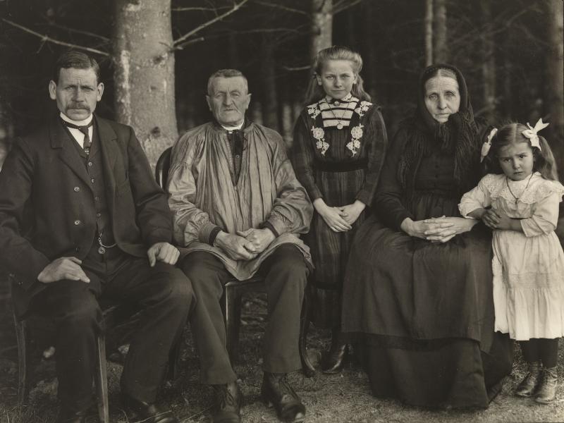
<path fill-rule="evenodd" d="M 180 264 L 196 295 L 190 329 L 200 356 L 203 384 L 220 385 L 237 379 L 226 349 L 226 332 L 220 300 L 223 286 L 233 278 L 223 263 L 209 252 L 192 252 Z"/>

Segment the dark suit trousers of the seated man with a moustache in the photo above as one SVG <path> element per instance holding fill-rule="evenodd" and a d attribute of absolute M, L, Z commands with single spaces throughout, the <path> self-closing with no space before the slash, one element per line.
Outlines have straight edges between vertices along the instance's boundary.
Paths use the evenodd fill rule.
<path fill-rule="evenodd" d="M 148 259 L 121 252 L 111 259 L 92 260 L 93 254 L 82 262 L 90 283 L 49 283 L 32 302 L 33 312 L 55 323 L 61 405 L 80 411 L 92 403 L 96 336 L 102 322 L 99 295 L 130 302 L 142 311 L 125 359 L 121 391 L 153 403 L 171 346 L 180 336 L 194 302 L 190 281 L 169 264 L 157 262 L 150 267 Z"/>

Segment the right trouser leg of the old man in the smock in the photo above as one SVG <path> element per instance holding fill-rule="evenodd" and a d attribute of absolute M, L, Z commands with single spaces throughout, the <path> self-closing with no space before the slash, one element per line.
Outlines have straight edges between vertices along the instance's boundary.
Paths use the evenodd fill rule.
<path fill-rule="evenodd" d="M 300 314 L 308 273 L 302 252 L 292 244 L 277 247 L 260 266 L 269 311 L 263 342 L 264 372 L 288 373 L 301 367 Z"/>

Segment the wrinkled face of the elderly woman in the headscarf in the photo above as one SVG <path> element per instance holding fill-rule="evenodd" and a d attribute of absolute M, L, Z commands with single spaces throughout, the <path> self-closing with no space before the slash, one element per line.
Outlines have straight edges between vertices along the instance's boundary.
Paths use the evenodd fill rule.
<path fill-rule="evenodd" d="M 460 109 L 458 81 L 448 76 L 434 76 L 425 82 L 425 106 L 439 123 L 448 121 L 448 116 Z"/>

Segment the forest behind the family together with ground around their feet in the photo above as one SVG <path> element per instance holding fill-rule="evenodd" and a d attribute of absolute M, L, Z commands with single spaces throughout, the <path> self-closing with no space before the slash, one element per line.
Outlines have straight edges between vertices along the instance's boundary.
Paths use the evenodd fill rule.
<path fill-rule="evenodd" d="M 219 68 L 247 75 L 249 117 L 278 130 L 290 145 L 312 57 L 344 44 L 364 59 L 361 75 L 389 135 L 415 108 L 422 68 L 452 63 L 465 75 L 476 116 L 494 125 L 538 118 L 551 124 L 543 135 L 562 174 L 563 36 L 562 0 L 0 0 L 0 168 L 18 136 L 56 113 L 47 86 L 66 49 L 88 51 L 101 63 L 106 90 L 97 113 L 132 125 L 154 164 L 180 133 L 209 121 L 207 78 Z M 17 354 L 4 282 L 0 275 L 0 422 L 51 422 L 52 360 L 38 367 L 32 405 L 14 405 Z M 276 422 L 257 400 L 264 304 L 251 298 L 243 310 L 247 329 L 236 371 L 248 398 L 247 422 Z M 197 356 L 186 339 L 185 373 L 162 396 L 182 422 L 201 422 L 210 396 L 198 383 Z M 326 342 L 327 333 L 310 331 L 313 353 Z M 563 421 L 564 393 L 544 408 L 515 400 L 511 392 L 525 372 L 516 353 L 503 393 L 482 412 L 433 412 L 376 400 L 355 366 L 293 384 L 308 407 L 308 422 Z M 561 347 L 560 374 L 563 356 Z M 121 422 L 115 406 L 119 366 L 111 364 L 109 372 L 112 421 Z"/>

